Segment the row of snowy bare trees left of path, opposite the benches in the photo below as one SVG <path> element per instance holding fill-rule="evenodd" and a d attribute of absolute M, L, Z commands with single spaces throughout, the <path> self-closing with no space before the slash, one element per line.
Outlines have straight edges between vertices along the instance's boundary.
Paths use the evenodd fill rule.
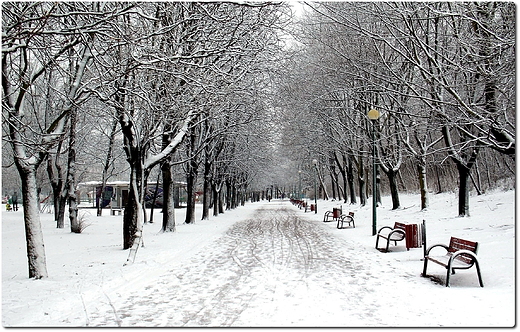
<path fill-rule="evenodd" d="M 78 178 L 95 169 L 105 184 L 114 172 L 127 174 L 129 260 L 142 239 L 152 170 L 162 178 L 164 231 L 175 230 L 174 167 L 186 174 L 187 223 L 195 221 L 199 174 L 203 219 L 211 204 L 223 212 L 223 186 L 236 206 L 239 192 L 261 184 L 253 179 L 269 160 L 267 69 L 282 46 L 287 5 L 4 2 L 2 9 L 4 156 L 21 178 L 30 278 L 47 276 L 37 183 L 44 163 L 57 225 L 64 227 L 68 205 L 73 232 L 81 231 Z M 116 164 L 118 155 L 126 166 Z"/>

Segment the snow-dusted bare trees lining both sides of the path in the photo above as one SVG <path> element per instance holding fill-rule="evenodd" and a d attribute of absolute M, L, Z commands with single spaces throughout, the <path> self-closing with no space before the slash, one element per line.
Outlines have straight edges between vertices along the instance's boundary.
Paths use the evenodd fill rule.
<path fill-rule="evenodd" d="M 331 197 L 365 204 L 373 130 L 388 178 L 378 183 L 393 208 L 410 183 L 426 208 L 428 184 L 447 189 L 457 178 L 466 215 L 471 181 L 483 190 L 483 178 L 514 176 L 513 4 L 307 8 L 292 40 L 280 33 L 291 18 L 284 3 L 4 2 L 3 161 L 22 184 L 29 276 L 47 275 L 43 175 L 57 226 L 68 206 L 73 232 L 81 231 L 78 182 L 129 179 L 130 261 L 150 178 L 164 190 L 162 229 L 175 230 L 179 171 L 187 223 L 196 219 L 197 184 L 207 219 L 211 207 L 218 215 L 247 192 L 288 188 L 289 174 L 293 188 L 298 176 L 312 183 L 314 170 L 325 198 L 330 177 Z M 382 114 L 377 122 L 370 109 Z"/>

